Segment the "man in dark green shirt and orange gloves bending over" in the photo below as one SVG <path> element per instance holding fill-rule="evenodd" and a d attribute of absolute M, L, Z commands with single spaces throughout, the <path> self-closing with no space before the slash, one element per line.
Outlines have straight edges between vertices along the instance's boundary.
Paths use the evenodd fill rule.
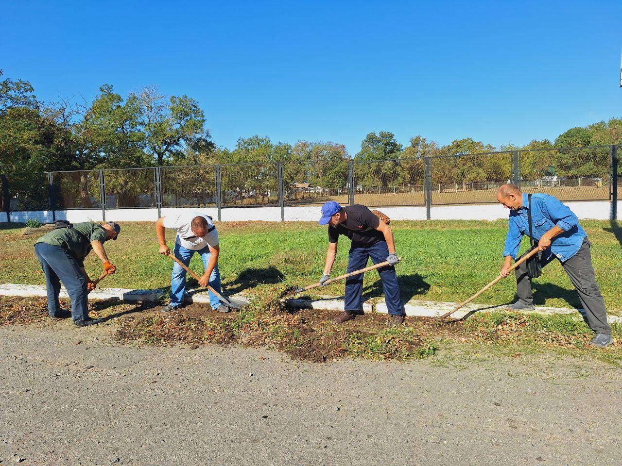
<path fill-rule="evenodd" d="M 116 240 L 121 227 L 116 222 L 68 225 L 46 233 L 35 243 L 35 254 L 45 273 L 47 308 L 53 318 L 71 317 L 78 327 L 98 324 L 103 319 L 91 319 L 88 316 L 87 295 L 95 289 L 95 285 L 86 273 L 84 259 L 91 249 L 95 250 L 103 263 L 104 272 L 116 272 L 116 267 L 108 260 L 104 242 Z M 72 301 L 71 314 L 63 311 L 58 302 L 61 281 Z"/>

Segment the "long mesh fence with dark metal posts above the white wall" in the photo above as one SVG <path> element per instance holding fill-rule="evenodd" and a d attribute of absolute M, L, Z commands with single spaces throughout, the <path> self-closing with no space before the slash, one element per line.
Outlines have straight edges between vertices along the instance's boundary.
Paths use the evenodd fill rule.
<path fill-rule="evenodd" d="M 64 209 L 369 207 L 497 203 L 504 183 L 561 201 L 622 198 L 620 146 L 539 148 L 392 160 L 288 162 L 2 175 L 2 211 Z M 295 217 L 295 216 L 294 216 Z"/>

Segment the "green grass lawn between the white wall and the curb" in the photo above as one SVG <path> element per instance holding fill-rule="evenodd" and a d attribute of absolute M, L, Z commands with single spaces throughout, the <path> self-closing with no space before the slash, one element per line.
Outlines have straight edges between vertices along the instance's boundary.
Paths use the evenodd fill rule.
<path fill-rule="evenodd" d="M 592 257 L 608 309 L 622 311 L 622 226 L 608 221 L 582 221 L 592 241 Z M 402 298 L 462 301 L 486 285 L 501 267 L 507 221 L 394 221 L 397 266 Z M 34 254 L 34 235 L 22 235 L 23 225 L 0 228 L 0 283 L 43 285 L 44 275 Z M 170 285 L 172 261 L 157 253 L 152 222 L 126 222 L 119 240 L 106 242 L 106 251 L 118 272 L 103 286 L 164 288 Z M 327 248 L 326 228 L 313 222 L 221 222 L 220 270 L 227 293 L 249 290 L 261 283 L 307 285 L 322 275 Z M 169 244 L 174 232 L 168 231 Z M 526 248 L 524 242 L 523 249 Z M 333 276 L 345 273 L 349 240 L 341 237 Z M 95 254 L 86 260 L 91 278 L 102 272 Z M 195 256 L 190 267 L 203 266 Z M 365 298 L 382 296 L 375 272 L 367 273 Z M 569 278 L 558 262 L 534 280 L 537 305 L 580 306 Z M 514 298 L 513 278 L 504 280 L 477 299 L 480 303 L 508 303 Z M 343 282 L 323 294 L 340 295 Z"/>

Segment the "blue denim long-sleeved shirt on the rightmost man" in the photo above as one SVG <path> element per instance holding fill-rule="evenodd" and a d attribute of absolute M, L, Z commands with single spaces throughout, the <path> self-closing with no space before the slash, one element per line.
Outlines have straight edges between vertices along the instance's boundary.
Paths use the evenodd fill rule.
<path fill-rule="evenodd" d="M 529 206 L 527 194 L 522 194 L 522 208 L 509 212 L 509 230 L 503 255 L 509 255 L 514 260 L 518 257 L 522 235 L 529 235 L 527 206 Z M 564 230 L 564 233 L 555 236 L 551 240 L 550 248 L 545 250 L 543 254 L 546 258 L 554 254 L 561 261 L 569 260 L 577 254 L 587 234 L 579 225 L 577 216 L 559 199 L 549 196 L 549 194 L 533 194 L 531 196 L 533 239 L 538 242 L 542 235 L 555 225 Z"/>

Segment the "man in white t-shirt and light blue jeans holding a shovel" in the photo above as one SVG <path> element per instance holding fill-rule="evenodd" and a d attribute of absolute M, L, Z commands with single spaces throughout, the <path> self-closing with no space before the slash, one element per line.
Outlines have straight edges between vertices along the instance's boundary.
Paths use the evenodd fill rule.
<path fill-rule="evenodd" d="M 218 272 L 218 232 L 211 221 L 211 217 L 200 212 L 190 211 L 166 215 L 156 222 L 157 239 L 160 242 L 160 254 L 170 254 L 166 244 L 165 229 L 170 228 L 177 232 L 175 238 L 175 257 L 180 259 L 186 266 L 190 259 L 198 252 L 205 265 L 205 273 L 199 280 L 199 286 L 205 288 L 210 285 L 220 293 L 220 272 Z M 164 312 L 175 311 L 183 306 L 183 296 L 186 291 L 186 271 L 175 262 L 171 277 L 170 304 L 161 310 Z M 220 299 L 210 291 L 211 308 L 221 313 L 231 311 Z"/>

